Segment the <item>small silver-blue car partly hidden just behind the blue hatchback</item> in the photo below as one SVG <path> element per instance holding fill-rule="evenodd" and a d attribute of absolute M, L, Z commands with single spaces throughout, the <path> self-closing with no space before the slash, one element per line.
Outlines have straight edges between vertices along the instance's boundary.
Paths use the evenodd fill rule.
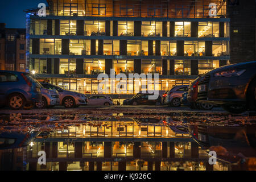
<path fill-rule="evenodd" d="M 42 100 L 41 102 L 36 102 L 35 106 L 39 109 L 46 107 L 54 107 L 55 105 L 60 105 L 59 92 L 57 90 L 51 90 L 46 88 L 41 88 Z"/>

